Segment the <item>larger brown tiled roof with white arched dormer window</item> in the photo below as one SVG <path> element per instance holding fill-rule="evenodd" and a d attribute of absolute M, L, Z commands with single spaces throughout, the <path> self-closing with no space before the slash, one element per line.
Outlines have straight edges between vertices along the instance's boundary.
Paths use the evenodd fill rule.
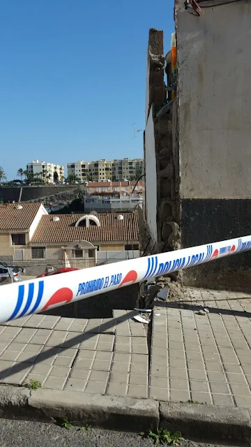
<path fill-rule="evenodd" d="M 75 223 L 86 214 L 58 214 L 59 221 L 53 221 L 51 214 L 44 215 L 31 239 L 31 242 L 73 242 L 80 240 L 96 241 L 132 241 L 139 239 L 139 222 L 137 213 L 96 214 L 100 227 L 91 225 L 75 227 Z"/>

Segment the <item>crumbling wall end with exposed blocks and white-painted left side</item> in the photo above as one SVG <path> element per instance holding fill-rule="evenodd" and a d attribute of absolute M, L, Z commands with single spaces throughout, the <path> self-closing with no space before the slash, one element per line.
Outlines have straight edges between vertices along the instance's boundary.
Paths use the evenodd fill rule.
<path fill-rule="evenodd" d="M 146 68 L 146 224 L 158 252 L 179 247 L 176 106 L 167 105 L 163 31 L 150 29 Z M 175 135 L 174 135 L 175 137 Z"/>

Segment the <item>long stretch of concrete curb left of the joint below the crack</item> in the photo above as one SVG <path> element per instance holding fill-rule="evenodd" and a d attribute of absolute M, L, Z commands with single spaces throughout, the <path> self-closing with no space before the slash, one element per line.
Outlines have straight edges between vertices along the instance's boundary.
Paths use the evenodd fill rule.
<path fill-rule="evenodd" d="M 40 388 L 0 386 L 0 417 L 137 432 L 158 426 L 159 404 L 151 399 L 103 396 Z"/>

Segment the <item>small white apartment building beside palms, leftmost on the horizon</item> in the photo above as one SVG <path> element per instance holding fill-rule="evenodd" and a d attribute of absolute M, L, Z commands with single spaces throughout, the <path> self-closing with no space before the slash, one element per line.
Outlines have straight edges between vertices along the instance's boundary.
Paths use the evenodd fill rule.
<path fill-rule="evenodd" d="M 40 179 L 43 179 L 46 183 L 54 182 L 54 172 L 59 175 L 59 182 L 64 177 L 64 168 L 54 163 L 47 163 L 45 161 L 33 160 L 31 163 L 27 163 L 26 170 L 29 174 L 33 174 Z"/>

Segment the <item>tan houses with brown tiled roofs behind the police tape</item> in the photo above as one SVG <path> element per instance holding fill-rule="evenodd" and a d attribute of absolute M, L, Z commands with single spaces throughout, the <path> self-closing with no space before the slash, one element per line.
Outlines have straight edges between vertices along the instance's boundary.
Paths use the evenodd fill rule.
<path fill-rule="evenodd" d="M 41 203 L 0 205 L 0 263 L 25 266 L 27 275 L 137 257 L 136 212 L 52 215 Z"/>

